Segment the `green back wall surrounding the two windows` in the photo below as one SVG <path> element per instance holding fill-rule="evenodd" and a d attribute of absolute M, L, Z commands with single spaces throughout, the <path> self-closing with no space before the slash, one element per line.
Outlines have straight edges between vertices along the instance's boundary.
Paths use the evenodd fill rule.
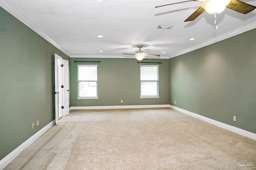
<path fill-rule="evenodd" d="M 74 63 L 74 61 L 101 62 Z M 140 99 L 140 65 L 136 59 L 71 58 L 70 106 L 168 105 L 170 77 L 168 59 L 147 59 L 144 62 L 162 62 L 157 64 L 159 65 L 159 99 Z M 98 64 L 99 99 L 76 99 L 77 65 L 80 64 Z M 153 65 L 153 63 L 142 64 Z M 120 102 L 121 100 L 123 103 Z"/>

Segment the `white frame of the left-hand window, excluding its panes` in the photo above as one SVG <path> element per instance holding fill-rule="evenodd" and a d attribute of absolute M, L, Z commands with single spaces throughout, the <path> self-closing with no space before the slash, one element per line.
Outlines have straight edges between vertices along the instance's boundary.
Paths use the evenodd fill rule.
<path fill-rule="evenodd" d="M 78 80 L 78 75 L 79 75 L 79 67 L 96 67 L 96 70 L 97 70 L 97 80 Z M 78 85 L 79 85 L 79 82 L 96 82 L 96 96 L 88 96 L 88 97 L 79 97 L 78 94 L 79 94 L 79 89 L 78 89 Z M 78 100 L 80 99 L 99 99 L 98 97 L 98 65 L 92 65 L 92 64 L 79 64 L 77 65 L 77 98 Z"/>

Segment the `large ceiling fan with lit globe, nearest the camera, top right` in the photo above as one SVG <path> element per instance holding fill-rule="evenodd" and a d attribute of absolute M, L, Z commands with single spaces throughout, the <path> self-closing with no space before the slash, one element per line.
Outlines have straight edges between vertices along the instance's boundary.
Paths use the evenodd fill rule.
<path fill-rule="evenodd" d="M 214 15 L 214 18 L 215 18 L 214 23 L 216 24 L 217 14 L 220 14 L 222 11 L 225 10 L 225 8 L 229 8 L 231 10 L 240 12 L 242 14 L 247 14 L 256 8 L 255 6 L 246 4 L 239 0 L 188 0 L 188 1 L 183 1 L 183 2 L 189 2 L 189 1 L 197 1 L 197 2 L 199 1 L 202 3 L 201 3 L 201 6 L 191 16 L 189 16 L 184 22 L 192 21 L 192 20 L 196 19 L 204 11 L 206 11 L 208 14 Z M 173 4 L 179 4 L 179 3 L 183 3 L 183 2 L 177 2 L 177 3 L 172 3 L 172 4 L 156 6 L 155 8 L 173 5 Z M 216 29 L 218 29 L 217 26 L 216 26 Z"/>

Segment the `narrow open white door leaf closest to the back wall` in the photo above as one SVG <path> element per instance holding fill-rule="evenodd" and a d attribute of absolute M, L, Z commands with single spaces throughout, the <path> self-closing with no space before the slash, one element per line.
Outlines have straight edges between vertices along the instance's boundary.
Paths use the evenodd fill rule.
<path fill-rule="evenodd" d="M 63 116 L 69 115 L 68 60 L 63 59 Z"/>

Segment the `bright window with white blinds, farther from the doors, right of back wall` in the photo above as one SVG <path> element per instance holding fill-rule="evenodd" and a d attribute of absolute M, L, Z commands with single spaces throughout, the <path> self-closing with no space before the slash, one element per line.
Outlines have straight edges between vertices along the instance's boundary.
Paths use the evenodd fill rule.
<path fill-rule="evenodd" d="M 140 98 L 159 98 L 158 81 L 158 65 L 140 65 Z"/>

